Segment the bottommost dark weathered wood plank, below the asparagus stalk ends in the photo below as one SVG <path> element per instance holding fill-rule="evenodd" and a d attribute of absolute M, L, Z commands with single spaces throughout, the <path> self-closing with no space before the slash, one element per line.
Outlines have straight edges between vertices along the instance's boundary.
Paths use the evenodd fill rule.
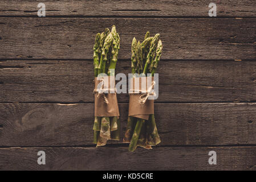
<path fill-rule="evenodd" d="M 38 165 L 38 151 L 46 152 L 46 165 Z M 217 164 L 210 165 L 209 151 Z M 256 147 L 128 147 L 0 148 L 3 170 L 255 170 Z M 107 154 L 107 155 L 106 155 Z M 100 180 L 98 176 L 97 180 Z"/>

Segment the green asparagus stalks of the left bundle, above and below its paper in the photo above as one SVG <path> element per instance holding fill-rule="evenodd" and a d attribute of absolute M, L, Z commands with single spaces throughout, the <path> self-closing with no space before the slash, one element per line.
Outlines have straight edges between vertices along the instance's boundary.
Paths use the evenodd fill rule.
<path fill-rule="evenodd" d="M 120 49 L 120 37 L 116 32 L 116 27 L 112 26 L 111 32 L 108 28 L 95 37 L 94 44 L 94 76 L 106 73 L 114 76 L 115 72 L 110 72 L 116 68 L 117 55 Z M 120 121 L 117 117 L 95 117 L 94 119 L 94 143 L 97 146 L 104 146 L 108 139 L 120 139 Z"/>

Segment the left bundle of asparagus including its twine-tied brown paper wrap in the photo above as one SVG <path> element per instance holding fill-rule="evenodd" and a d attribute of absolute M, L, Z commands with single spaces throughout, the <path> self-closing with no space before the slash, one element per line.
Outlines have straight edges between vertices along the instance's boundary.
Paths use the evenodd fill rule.
<path fill-rule="evenodd" d="M 107 140 L 120 139 L 119 109 L 115 93 L 115 68 L 120 38 L 112 26 L 97 34 L 94 45 L 95 120 L 94 143 L 104 146 Z M 107 75 L 107 76 L 106 76 Z"/>

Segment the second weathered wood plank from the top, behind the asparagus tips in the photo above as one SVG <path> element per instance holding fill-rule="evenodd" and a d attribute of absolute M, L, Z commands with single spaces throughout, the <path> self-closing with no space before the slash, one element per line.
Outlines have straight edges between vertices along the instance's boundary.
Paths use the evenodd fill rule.
<path fill-rule="evenodd" d="M 91 59 L 96 33 L 112 24 L 119 59 L 146 31 L 161 34 L 162 59 L 256 58 L 256 18 L 0 18 L 0 59 Z"/>

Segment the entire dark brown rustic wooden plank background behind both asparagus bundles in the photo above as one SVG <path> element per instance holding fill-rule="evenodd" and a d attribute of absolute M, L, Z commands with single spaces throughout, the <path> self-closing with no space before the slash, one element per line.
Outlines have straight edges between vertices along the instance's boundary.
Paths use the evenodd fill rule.
<path fill-rule="evenodd" d="M 121 37 L 117 72 L 131 72 L 133 36 L 161 34 L 162 142 L 153 150 L 92 144 L 92 47 L 112 24 Z M 254 0 L 2 0 L 0 51 L 0 169 L 256 169 Z M 128 95 L 118 100 L 123 134 Z M 37 164 L 40 150 L 46 165 Z M 208 164 L 211 150 L 217 165 Z"/>

